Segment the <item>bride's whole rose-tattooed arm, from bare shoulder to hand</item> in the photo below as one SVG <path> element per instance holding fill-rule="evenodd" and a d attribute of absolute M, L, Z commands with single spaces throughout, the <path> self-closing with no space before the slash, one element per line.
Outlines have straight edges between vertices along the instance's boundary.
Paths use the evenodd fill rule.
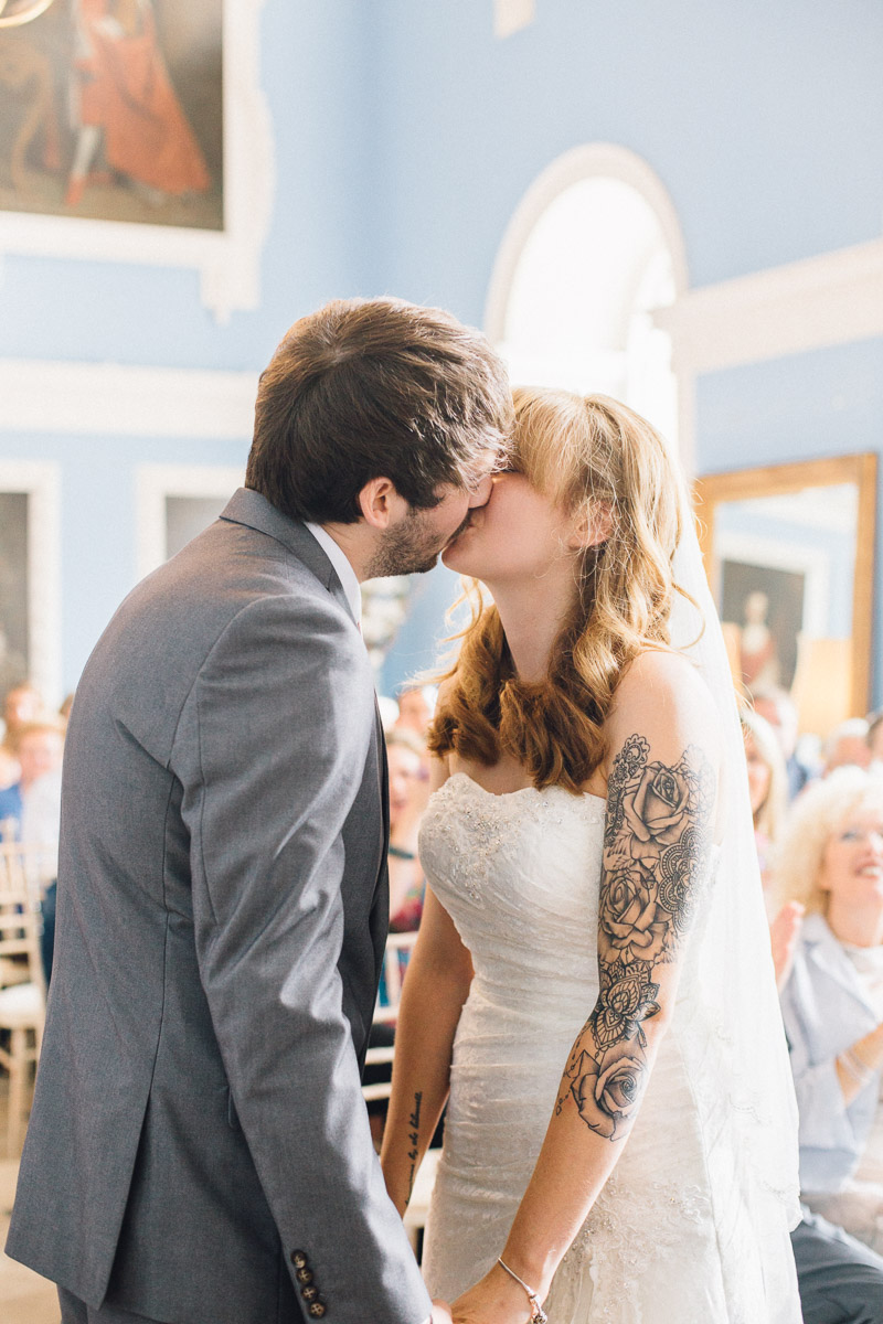
<path fill-rule="evenodd" d="M 503 1250 L 540 1299 L 622 1152 L 673 1014 L 708 876 L 716 728 L 711 696 L 683 658 L 646 654 L 620 683 L 608 722 L 598 997 Z M 526 1295 L 499 1266 L 454 1304 L 455 1324 L 524 1319 Z"/>

